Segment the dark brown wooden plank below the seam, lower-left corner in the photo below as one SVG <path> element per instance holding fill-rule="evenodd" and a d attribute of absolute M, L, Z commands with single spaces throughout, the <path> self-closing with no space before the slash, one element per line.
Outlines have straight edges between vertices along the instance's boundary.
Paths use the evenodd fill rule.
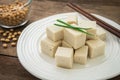
<path fill-rule="evenodd" d="M 15 57 L 0 56 L 0 80 L 39 80 L 28 73 Z"/>

